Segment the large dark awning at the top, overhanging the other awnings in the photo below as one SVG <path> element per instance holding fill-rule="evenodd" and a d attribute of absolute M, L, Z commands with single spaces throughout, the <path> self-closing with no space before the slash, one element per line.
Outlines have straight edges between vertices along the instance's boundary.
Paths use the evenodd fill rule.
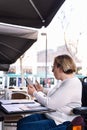
<path fill-rule="evenodd" d="M 65 0 L 0 0 L 0 22 L 27 27 L 47 26 Z"/>

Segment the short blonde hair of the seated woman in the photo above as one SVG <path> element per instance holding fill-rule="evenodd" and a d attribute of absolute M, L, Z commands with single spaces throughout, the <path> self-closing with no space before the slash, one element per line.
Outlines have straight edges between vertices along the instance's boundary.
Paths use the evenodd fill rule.
<path fill-rule="evenodd" d="M 54 59 L 54 65 L 61 68 L 64 73 L 71 74 L 76 72 L 77 68 L 73 59 L 69 55 L 59 55 Z"/>

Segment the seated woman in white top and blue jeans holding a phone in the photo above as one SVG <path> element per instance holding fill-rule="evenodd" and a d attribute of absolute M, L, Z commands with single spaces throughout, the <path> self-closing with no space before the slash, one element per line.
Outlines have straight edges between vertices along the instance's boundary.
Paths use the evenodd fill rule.
<path fill-rule="evenodd" d="M 82 85 L 75 77 L 76 65 L 68 55 L 55 57 L 52 72 L 61 82 L 50 91 L 37 83 L 28 86 L 28 93 L 42 105 L 54 109 L 55 112 L 33 114 L 18 121 L 17 130 L 50 130 L 60 128 L 66 121 L 72 121 L 75 115 L 72 109 L 81 106 Z"/>

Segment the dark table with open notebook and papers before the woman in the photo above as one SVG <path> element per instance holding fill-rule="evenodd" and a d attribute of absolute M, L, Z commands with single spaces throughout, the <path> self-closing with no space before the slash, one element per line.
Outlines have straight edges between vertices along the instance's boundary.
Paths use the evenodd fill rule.
<path fill-rule="evenodd" d="M 4 130 L 4 117 L 6 115 L 33 114 L 53 112 L 54 110 L 42 106 L 34 100 L 0 100 L 1 129 Z"/>

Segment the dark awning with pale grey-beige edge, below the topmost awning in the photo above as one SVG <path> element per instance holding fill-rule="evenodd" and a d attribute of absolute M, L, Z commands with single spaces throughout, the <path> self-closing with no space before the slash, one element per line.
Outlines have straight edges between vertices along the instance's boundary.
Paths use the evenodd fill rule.
<path fill-rule="evenodd" d="M 0 24 L 0 63 L 12 64 L 36 42 L 38 31 Z"/>

